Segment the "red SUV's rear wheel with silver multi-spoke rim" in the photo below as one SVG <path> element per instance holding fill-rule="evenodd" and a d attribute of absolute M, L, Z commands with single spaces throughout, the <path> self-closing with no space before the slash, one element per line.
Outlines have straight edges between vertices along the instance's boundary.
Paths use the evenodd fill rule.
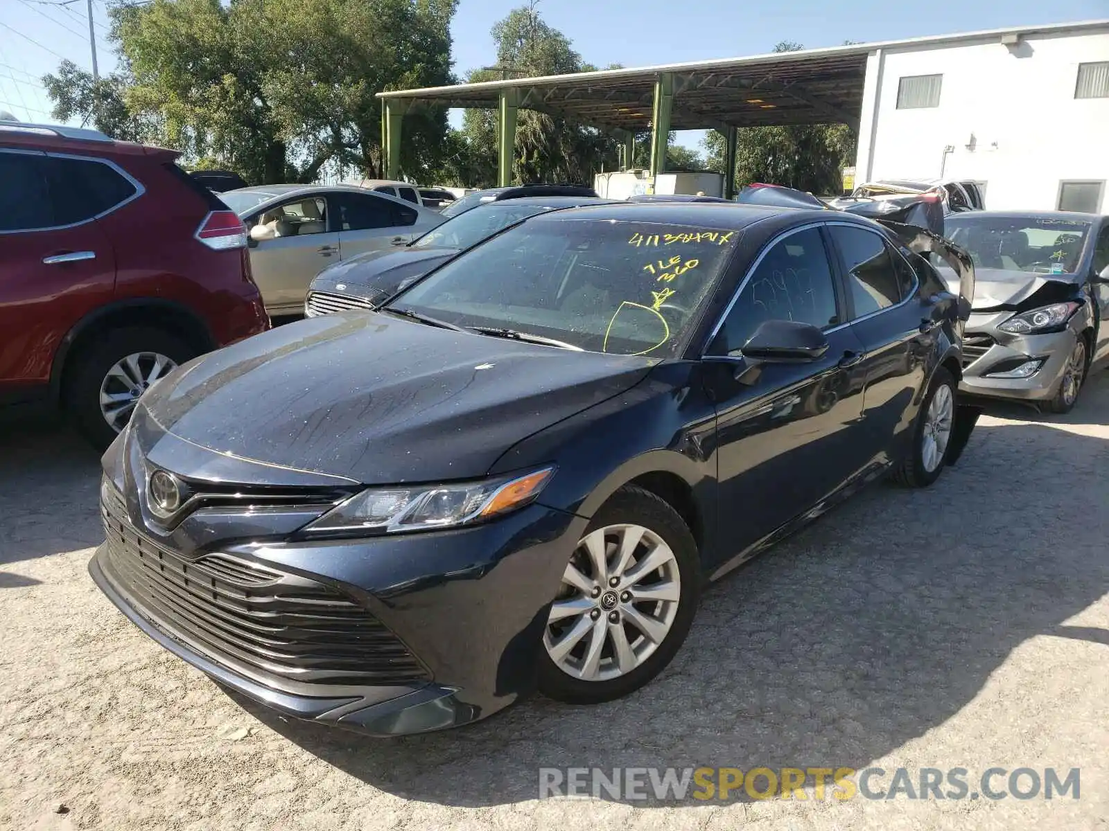
<path fill-rule="evenodd" d="M 146 389 L 196 350 L 159 329 L 118 329 L 81 348 L 63 397 L 77 428 L 99 450 L 126 427 Z"/>

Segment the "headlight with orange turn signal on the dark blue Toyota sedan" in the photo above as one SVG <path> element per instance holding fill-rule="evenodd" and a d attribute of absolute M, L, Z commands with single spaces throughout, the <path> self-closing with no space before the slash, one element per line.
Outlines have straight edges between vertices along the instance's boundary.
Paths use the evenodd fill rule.
<path fill-rule="evenodd" d="M 532 502 L 553 468 L 525 476 L 416 488 L 370 488 L 305 526 L 308 532 L 396 533 L 469 525 Z"/>

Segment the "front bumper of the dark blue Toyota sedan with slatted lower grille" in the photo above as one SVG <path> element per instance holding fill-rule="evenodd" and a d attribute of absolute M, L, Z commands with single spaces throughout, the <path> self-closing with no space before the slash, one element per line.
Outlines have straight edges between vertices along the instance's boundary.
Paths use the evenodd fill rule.
<path fill-rule="evenodd" d="M 129 515 L 113 520 L 121 511 Z M 141 513 L 136 520 L 132 512 L 130 499 L 105 507 L 109 540 L 89 564 L 93 581 L 132 623 L 215 680 L 273 709 L 373 736 L 456 727 L 529 693 L 547 611 L 586 523 L 536 504 L 457 531 L 311 543 L 238 537 L 215 551 L 183 552 L 171 546 L 218 537 L 221 529 L 238 533 L 242 517 L 200 509 L 170 540 L 156 538 L 141 526 Z M 140 541 L 139 553 L 124 558 L 120 540 L 131 534 Z M 282 618 L 286 602 L 296 595 L 252 589 L 263 614 L 247 617 L 242 609 L 250 607 L 252 591 L 244 603 L 233 596 L 234 581 L 213 578 L 205 563 L 215 557 L 307 586 L 316 599 L 343 598 L 352 613 L 379 624 L 380 637 L 395 636 L 389 660 L 414 657 L 426 671 L 390 674 L 370 655 L 367 669 L 389 676 L 386 681 L 321 679 L 327 674 L 318 670 L 322 656 L 306 655 L 303 643 L 283 639 L 292 630 L 286 627 L 298 624 L 281 619 L 274 626 L 255 625 L 265 623 L 271 611 Z M 264 596 L 267 591 L 272 596 Z M 247 628 L 236 630 L 243 619 Z M 315 620 L 311 625 L 313 632 L 321 626 Z M 349 676 L 355 642 L 346 632 L 344 638 L 342 648 L 325 649 L 326 658 L 336 650 L 347 656 L 339 675 Z M 396 657 L 398 653 L 404 655 Z M 289 654 L 296 660 L 288 660 Z M 325 670 L 334 668 L 333 661 Z"/>

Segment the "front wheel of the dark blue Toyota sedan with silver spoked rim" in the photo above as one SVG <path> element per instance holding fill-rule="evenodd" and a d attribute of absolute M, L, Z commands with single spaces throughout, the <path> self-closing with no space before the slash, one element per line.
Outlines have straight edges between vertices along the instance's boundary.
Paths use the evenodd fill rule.
<path fill-rule="evenodd" d="M 628 538 L 633 542 L 637 529 L 643 533 L 634 547 L 629 546 L 631 557 L 619 568 L 620 543 L 625 538 L 622 534 L 630 532 Z M 613 587 L 604 578 L 593 579 L 597 561 L 590 556 L 587 543 L 591 538 L 594 543 L 602 542 L 597 550 L 607 554 L 607 574 L 619 573 L 625 578 L 622 584 Z M 649 557 L 661 566 L 637 574 L 635 565 L 645 564 Z M 568 704 L 599 704 L 625 696 L 661 673 L 689 634 L 701 595 L 696 542 L 668 502 L 642 488 L 628 485 L 617 491 L 593 516 L 567 565 L 568 575 L 571 568 L 577 570 L 577 577 L 583 577 L 590 586 L 596 583 L 600 591 L 587 592 L 580 579 L 578 587 L 563 579 L 539 645 L 539 690 Z M 635 601 L 634 594 L 629 596 L 652 591 L 664 599 Z M 583 611 L 556 619 L 570 608 L 560 604 L 569 603 Z M 594 612 L 596 619 L 591 617 Z M 613 622 L 613 615 L 619 623 Z M 655 638 L 649 638 L 641 625 L 651 629 Z M 576 627 L 581 627 L 583 634 L 557 661 L 554 656 L 561 656 L 566 648 L 563 638 Z M 622 637 L 619 633 L 623 633 Z M 598 638 L 602 643 L 594 649 Z M 618 639 L 623 640 L 621 646 L 627 646 L 620 650 L 623 667 L 619 666 Z M 594 654 L 594 671 L 590 671 L 589 659 Z"/>

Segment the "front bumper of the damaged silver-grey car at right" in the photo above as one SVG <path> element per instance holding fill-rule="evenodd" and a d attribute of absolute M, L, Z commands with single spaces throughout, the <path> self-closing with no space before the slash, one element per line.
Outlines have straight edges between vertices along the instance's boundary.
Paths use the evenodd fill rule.
<path fill-rule="evenodd" d="M 1003 319 L 1008 315 L 1003 316 Z M 996 329 L 967 329 L 965 337 L 989 336 L 997 339 L 973 361 L 964 361 L 959 390 L 967 394 L 1006 398 L 1019 401 L 1047 401 L 1059 391 L 1059 382 L 1077 342 L 1071 328 L 1051 335 L 1005 335 Z M 1004 337 L 1004 342 L 1001 337 Z M 998 365 L 1044 359 L 1044 365 L 1028 378 L 989 378 Z"/>

